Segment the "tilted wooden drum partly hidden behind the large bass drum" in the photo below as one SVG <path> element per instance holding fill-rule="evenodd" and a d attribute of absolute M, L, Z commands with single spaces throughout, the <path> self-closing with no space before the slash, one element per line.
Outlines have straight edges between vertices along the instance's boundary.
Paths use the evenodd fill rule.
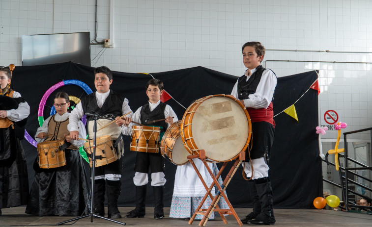
<path fill-rule="evenodd" d="M 186 164 L 189 161 L 187 156 L 190 155 L 185 146 L 183 146 L 183 142 L 180 137 L 181 125 L 182 122 L 177 121 L 169 126 L 169 128 L 165 131 L 160 143 L 160 151 L 163 157 L 168 157 L 173 164 L 178 166 Z"/>

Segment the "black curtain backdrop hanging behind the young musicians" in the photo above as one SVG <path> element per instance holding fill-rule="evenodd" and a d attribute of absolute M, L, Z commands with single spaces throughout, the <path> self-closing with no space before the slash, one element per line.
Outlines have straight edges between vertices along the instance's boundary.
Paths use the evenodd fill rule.
<path fill-rule="evenodd" d="M 40 66 L 18 66 L 13 72 L 11 86 L 21 93 L 29 103 L 30 115 L 26 130 L 33 137 L 39 123 L 37 112 L 44 93 L 62 80 L 76 79 L 86 83 L 94 92 L 94 68 L 72 62 Z M 194 67 L 162 73 L 153 73 L 155 78 L 164 82 L 165 90 L 186 108 L 192 101 L 216 94 L 230 94 L 237 77 L 220 73 L 203 67 Z M 278 78 L 275 91 L 274 115 L 283 111 L 303 95 L 316 80 L 315 71 Z M 129 100 L 133 111 L 142 106 L 148 98 L 145 84 L 151 76 L 113 72 L 111 89 L 122 93 Z M 78 98 L 86 96 L 82 88 L 67 85 L 54 91 L 44 108 L 44 119 L 50 116 L 54 95 L 58 91 L 65 91 Z M 185 109 L 173 100 L 166 102 L 181 119 Z M 318 125 L 317 91 L 310 89 L 295 107 L 298 120 L 281 113 L 274 118 L 275 141 L 270 158 L 270 179 L 274 190 L 274 207 L 309 208 L 313 207 L 313 200 L 322 195 L 321 159 L 318 156 L 318 140 L 315 127 Z M 254 132 L 253 132 L 254 133 Z M 29 185 L 33 182 L 34 170 L 32 164 L 37 150 L 24 139 L 22 140 L 29 169 Z M 120 206 L 135 205 L 134 163 L 136 152 L 129 151 L 130 137 L 125 136 L 125 154 L 122 158 L 122 186 L 119 198 Z M 223 173 L 228 173 L 232 162 Z M 219 163 L 220 167 L 222 163 Z M 86 172 L 90 176 L 86 163 Z M 174 174 L 176 166 L 165 161 L 166 179 L 164 190 L 164 204 L 170 206 L 172 201 Z M 150 177 L 150 175 L 149 175 Z M 150 182 L 150 181 L 149 181 Z M 148 184 L 150 185 L 150 184 Z M 239 167 L 227 188 L 230 202 L 236 207 L 250 206 L 247 182 L 242 178 L 242 167 Z M 153 206 L 152 188 L 148 186 L 147 206 Z"/>

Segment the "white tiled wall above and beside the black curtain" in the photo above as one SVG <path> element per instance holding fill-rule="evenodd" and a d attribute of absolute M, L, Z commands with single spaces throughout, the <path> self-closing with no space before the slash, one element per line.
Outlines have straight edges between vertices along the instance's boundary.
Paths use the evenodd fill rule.
<path fill-rule="evenodd" d="M 370 0 L 98 0 L 98 41 L 110 34 L 110 2 L 114 48 L 91 45 L 91 66 L 151 73 L 200 65 L 240 76 L 241 46 L 257 40 L 277 76 L 320 70 L 319 114 L 339 112 L 343 131 L 372 126 Z M 90 31 L 94 39 L 94 20 L 95 0 L 1 0 L 0 65 L 22 64 L 21 35 Z"/>

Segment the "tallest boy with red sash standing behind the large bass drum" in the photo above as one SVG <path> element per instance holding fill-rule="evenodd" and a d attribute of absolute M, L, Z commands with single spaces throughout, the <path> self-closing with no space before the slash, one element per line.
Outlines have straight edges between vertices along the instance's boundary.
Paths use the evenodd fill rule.
<path fill-rule="evenodd" d="M 273 104 L 277 78 L 273 71 L 260 64 L 265 48 L 259 42 L 248 42 L 242 47 L 243 63 L 248 70 L 235 83 L 231 95 L 245 107 L 252 120 L 252 150 L 243 163 L 248 181 L 253 212 L 241 220 L 245 224 L 270 225 L 275 223 L 273 191 L 269 180 L 269 154 L 274 141 Z M 253 173 L 251 173 L 253 165 Z"/>

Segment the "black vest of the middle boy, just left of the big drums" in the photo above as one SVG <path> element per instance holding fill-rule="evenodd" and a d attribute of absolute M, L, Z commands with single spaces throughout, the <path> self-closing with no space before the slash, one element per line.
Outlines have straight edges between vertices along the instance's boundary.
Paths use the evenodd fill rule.
<path fill-rule="evenodd" d="M 145 126 L 161 126 L 161 132 L 167 130 L 168 124 L 165 121 L 154 122 L 154 123 L 147 123 L 147 121 L 154 121 L 159 119 L 164 119 L 164 110 L 167 104 L 160 102 L 158 106 L 155 107 L 154 110 L 150 111 L 150 105 L 147 103 L 142 106 L 141 108 L 141 122 Z"/>

